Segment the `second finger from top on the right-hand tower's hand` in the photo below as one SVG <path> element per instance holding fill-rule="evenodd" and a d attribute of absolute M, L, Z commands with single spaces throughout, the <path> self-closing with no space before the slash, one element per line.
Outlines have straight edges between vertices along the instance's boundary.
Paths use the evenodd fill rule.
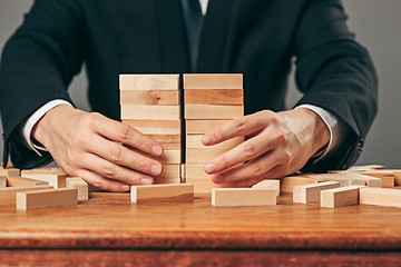
<path fill-rule="evenodd" d="M 254 159 L 277 147 L 283 141 L 282 138 L 283 136 L 280 132 L 266 128 L 266 130 L 258 136 L 239 144 L 235 148 L 208 161 L 205 166 L 205 171 L 213 175 Z"/>

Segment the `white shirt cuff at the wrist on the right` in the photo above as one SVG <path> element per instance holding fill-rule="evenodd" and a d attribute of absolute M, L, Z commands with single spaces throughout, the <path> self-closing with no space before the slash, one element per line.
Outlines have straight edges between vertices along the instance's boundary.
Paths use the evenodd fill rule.
<path fill-rule="evenodd" d="M 301 105 L 301 106 L 297 106 L 296 108 L 306 108 L 306 109 L 312 110 L 319 117 L 321 117 L 321 119 L 324 121 L 324 123 L 329 128 L 330 141 L 329 141 L 329 145 L 326 146 L 326 149 L 321 155 L 314 155 L 314 157 L 319 156 L 315 159 L 315 161 L 319 161 L 322 158 L 324 158 L 330 151 L 334 151 L 335 148 L 338 148 L 341 145 L 341 142 L 344 140 L 344 138 L 346 136 L 345 134 L 346 134 L 348 127 L 335 115 L 333 115 L 332 112 L 330 112 L 321 107 L 317 107 L 314 105 Z"/>

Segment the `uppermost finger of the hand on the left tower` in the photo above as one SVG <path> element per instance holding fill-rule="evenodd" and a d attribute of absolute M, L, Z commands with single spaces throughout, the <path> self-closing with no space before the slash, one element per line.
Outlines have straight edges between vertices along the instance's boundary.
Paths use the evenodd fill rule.
<path fill-rule="evenodd" d="M 90 113 L 90 123 L 94 126 L 96 132 L 106 138 L 118 141 L 131 147 L 135 147 L 146 154 L 159 157 L 163 155 L 163 147 L 160 144 L 153 140 L 150 137 L 144 136 L 136 129 L 124 125 L 121 122 L 111 120 L 101 115 Z"/>

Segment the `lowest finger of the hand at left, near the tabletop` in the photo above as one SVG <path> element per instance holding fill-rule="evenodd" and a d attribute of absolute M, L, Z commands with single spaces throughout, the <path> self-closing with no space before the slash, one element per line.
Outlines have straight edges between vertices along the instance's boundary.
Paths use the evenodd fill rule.
<path fill-rule="evenodd" d="M 79 170 L 78 175 L 89 185 L 107 191 L 129 191 L 129 185 L 116 180 L 106 179 L 87 169 Z"/>

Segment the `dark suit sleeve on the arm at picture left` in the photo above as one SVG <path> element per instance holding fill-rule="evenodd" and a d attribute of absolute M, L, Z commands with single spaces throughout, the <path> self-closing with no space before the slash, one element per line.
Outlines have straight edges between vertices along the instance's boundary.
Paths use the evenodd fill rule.
<path fill-rule="evenodd" d="M 82 14 L 74 0 L 37 0 L 4 46 L 0 66 L 3 161 L 19 168 L 50 162 L 21 141 L 20 126 L 53 99 L 71 102 L 67 87 L 84 61 Z"/>

